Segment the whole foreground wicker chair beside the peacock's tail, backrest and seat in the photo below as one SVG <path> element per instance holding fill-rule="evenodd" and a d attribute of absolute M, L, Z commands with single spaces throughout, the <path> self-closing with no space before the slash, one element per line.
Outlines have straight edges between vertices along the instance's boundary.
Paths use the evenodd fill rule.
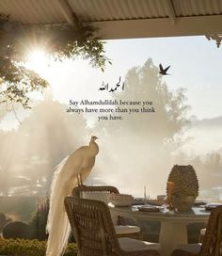
<path fill-rule="evenodd" d="M 108 206 L 99 200 L 65 199 L 79 256 L 158 256 L 156 245 L 117 238 Z"/>

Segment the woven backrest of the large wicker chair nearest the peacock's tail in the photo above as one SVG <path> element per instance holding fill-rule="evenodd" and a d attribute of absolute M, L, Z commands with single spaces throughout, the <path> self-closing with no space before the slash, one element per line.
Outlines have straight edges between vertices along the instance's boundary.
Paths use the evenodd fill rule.
<path fill-rule="evenodd" d="M 67 197 L 65 207 L 79 255 L 119 255 L 114 252 L 120 251 L 119 242 L 109 209 L 103 201 Z"/>

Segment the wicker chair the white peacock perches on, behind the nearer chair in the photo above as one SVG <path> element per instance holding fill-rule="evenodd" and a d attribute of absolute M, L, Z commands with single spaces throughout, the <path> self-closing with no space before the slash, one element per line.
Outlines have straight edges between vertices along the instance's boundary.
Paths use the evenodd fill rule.
<path fill-rule="evenodd" d="M 88 194 L 87 195 L 85 192 L 92 192 L 92 193 L 89 193 L 89 194 L 87 193 Z M 101 192 L 101 195 L 107 195 L 110 193 L 119 194 L 118 188 L 111 185 L 100 185 L 100 186 L 99 185 L 98 186 L 82 185 L 82 186 L 77 186 L 73 188 L 71 195 L 78 199 L 85 198 L 90 200 L 103 200 L 104 202 L 107 202 L 105 201 L 107 200 L 107 197 L 103 198 L 101 196 L 100 198 L 98 198 L 99 194 L 96 192 Z M 93 194 L 96 195 L 96 198 L 93 197 Z M 87 198 L 87 196 L 89 195 L 90 197 Z M 118 216 L 118 219 L 113 219 L 113 222 L 114 222 L 114 228 L 118 237 L 131 237 L 135 239 L 142 239 L 140 228 L 137 226 L 126 225 L 123 217 Z"/>

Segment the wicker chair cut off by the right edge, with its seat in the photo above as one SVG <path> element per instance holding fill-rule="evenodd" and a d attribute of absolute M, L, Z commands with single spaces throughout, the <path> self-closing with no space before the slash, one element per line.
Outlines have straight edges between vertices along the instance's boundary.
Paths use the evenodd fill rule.
<path fill-rule="evenodd" d="M 221 256 L 222 255 L 222 206 L 211 213 L 202 244 L 188 244 L 175 249 L 172 256 Z"/>

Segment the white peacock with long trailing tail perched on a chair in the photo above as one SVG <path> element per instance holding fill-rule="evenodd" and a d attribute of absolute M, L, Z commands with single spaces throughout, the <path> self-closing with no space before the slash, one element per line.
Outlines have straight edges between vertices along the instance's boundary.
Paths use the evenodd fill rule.
<path fill-rule="evenodd" d="M 95 163 L 99 147 L 95 143 L 96 136 L 91 136 L 89 146 L 83 146 L 66 157 L 56 168 L 51 184 L 50 208 L 46 231 L 49 233 L 46 256 L 63 254 L 69 240 L 71 227 L 65 211 L 64 199 L 71 195 L 77 185 L 77 176 L 87 178 Z"/>

